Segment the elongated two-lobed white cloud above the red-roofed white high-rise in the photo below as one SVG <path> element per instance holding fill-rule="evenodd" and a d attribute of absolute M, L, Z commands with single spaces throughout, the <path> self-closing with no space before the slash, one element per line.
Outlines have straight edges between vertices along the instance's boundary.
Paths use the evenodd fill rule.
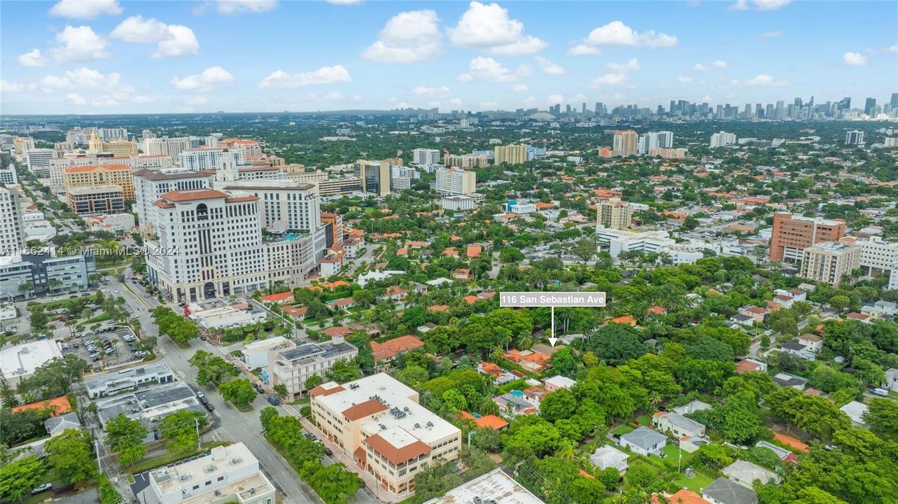
<path fill-rule="evenodd" d="M 139 15 L 120 22 L 110 37 L 136 44 L 157 44 L 154 58 L 192 56 L 199 52 L 199 41 L 189 27 Z"/>

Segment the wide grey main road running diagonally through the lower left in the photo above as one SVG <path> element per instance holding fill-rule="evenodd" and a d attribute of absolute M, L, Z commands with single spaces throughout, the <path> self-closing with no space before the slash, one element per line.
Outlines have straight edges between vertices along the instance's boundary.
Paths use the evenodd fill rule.
<path fill-rule="evenodd" d="M 126 274 L 126 277 L 129 277 Z M 133 294 L 128 288 L 121 287 L 117 279 L 110 279 L 109 287 L 113 291 L 118 289 L 120 296 L 125 297 L 125 304 L 132 314 L 136 314 L 140 320 L 143 331 L 151 336 L 158 336 L 153 319 L 150 317 L 149 309 L 160 305 L 155 298 L 144 297 L 144 291 L 130 280 L 129 287 L 138 294 Z M 187 359 L 193 355 L 196 349 L 205 349 L 216 355 L 224 355 L 221 349 L 209 344 L 207 341 L 193 340 L 191 349 L 181 350 L 168 338 L 159 339 L 160 357 L 172 368 L 180 379 L 187 382 L 197 390 L 206 393 L 209 401 L 215 406 L 215 416 L 218 421 L 214 422 L 214 429 L 204 435 L 204 440 L 220 439 L 225 441 L 242 441 L 248 447 L 256 458 L 259 459 L 263 471 L 269 475 L 269 478 L 277 486 L 278 490 L 286 494 L 286 502 L 303 503 L 303 504 L 319 504 L 321 500 L 317 495 L 299 479 L 293 468 L 281 458 L 279 454 L 272 448 L 265 438 L 262 438 L 262 426 L 259 421 L 259 411 L 269 405 L 264 395 L 257 395 L 253 402 L 254 411 L 249 413 L 241 413 L 236 411 L 222 399 L 221 395 L 212 387 L 200 387 L 197 385 L 197 371 L 190 367 Z M 278 409 L 278 411 L 281 411 Z M 364 495 L 364 494 L 363 494 Z M 374 500 L 366 500 L 374 502 Z M 357 500 L 357 502 L 365 502 L 365 500 Z"/>

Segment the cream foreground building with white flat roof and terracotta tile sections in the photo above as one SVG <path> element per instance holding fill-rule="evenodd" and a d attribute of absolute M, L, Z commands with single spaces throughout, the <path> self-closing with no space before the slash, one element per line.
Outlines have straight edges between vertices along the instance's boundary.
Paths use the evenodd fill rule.
<path fill-rule="evenodd" d="M 310 392 L 312 418 L 327 438 L 353 456 L 391 498 L 415 493 L 415 475 L 458 458 L 462 432 L 418 404 L 418 393 L 379 373 Z"/>

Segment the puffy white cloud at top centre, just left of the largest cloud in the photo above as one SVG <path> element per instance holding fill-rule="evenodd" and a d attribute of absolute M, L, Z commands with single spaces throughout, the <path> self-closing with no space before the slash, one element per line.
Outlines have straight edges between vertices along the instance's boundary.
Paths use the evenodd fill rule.
<path fill-rule="evenodd" d="M 398 13 L 383 26 L 362 57 L 384 63 L 413 63 L 436 57 L 443 35 L 434 11 Z"/>

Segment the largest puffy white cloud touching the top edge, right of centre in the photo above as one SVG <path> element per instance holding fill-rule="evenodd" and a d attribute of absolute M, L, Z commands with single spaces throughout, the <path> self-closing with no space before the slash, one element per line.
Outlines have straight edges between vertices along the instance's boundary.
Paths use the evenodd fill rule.
<path fill-rule="evenodd" d="M 457 46 L 482 49 L 496 56 L 536 54 L 548 45 L 544 40 L 524 35 L 524 23 L 508 17 L 506 8 L 476 1 L 447 32 Z"/>

